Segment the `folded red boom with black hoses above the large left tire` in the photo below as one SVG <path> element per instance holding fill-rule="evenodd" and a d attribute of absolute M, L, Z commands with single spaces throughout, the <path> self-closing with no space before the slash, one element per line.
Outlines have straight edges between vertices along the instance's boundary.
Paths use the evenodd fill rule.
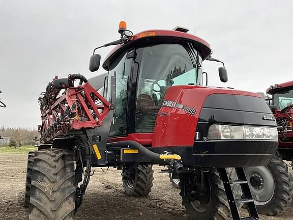
<path fill-rule="evenodd" d="M 86 82 L 74 87 L 75 79 Z M 65 92 L 58 96 L 62 89 L 55 82 L 61 81 L 64 81 L 62 86 Z M 64 80 L 55 77 L 41 95 L 39 104 L 42 125 L 38 127 L 44 143 L 50 143 L 55 137 L 64 136 L 71 130 L 101 126 L 107 114 L 115 107 L 80 74 L 69 75 Z"/>

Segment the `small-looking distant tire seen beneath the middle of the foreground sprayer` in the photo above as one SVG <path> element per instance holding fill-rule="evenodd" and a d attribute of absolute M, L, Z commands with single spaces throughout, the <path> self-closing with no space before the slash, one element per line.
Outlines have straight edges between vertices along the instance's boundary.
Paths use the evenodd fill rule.
<path fill-rule="evenodd" d="M 122 182 L 125 193 L 129 196 L 148 196 L 153 187 L 153 166 L 134 165 L 124 166 L 122 170 Z"/>

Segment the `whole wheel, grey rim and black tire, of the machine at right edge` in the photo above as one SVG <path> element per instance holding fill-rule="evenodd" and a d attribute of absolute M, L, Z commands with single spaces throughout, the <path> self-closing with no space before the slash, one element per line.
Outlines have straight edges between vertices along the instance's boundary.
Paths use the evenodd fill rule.
<path fill-rule="evenodd" d="M 248 184 L 257 211 L 263 215 L 277 215 L 292 199 L 292 182 L 288 167 L 276 153 L 268 166 L 245 168 Z"/>

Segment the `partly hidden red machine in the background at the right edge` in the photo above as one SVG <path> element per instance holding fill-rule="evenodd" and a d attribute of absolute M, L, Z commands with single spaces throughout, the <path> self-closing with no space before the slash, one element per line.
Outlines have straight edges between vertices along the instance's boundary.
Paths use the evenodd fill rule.
<path fill-rule="evenodd" d="M 265 167 L 246 168 L 250 189 L 257 209 L 262 214 L 277 215 L 289 206 L 293 194 L 292 175 L 288 164 L 293 159 L 293 81 L 276 84 L 267 89 L 267 103 L 276 120 L 279 146 L 274 157 Z M 263 94 L 263 98 L 265 95 Z M 291 166 L 291 165 L 289 165 Z"/>

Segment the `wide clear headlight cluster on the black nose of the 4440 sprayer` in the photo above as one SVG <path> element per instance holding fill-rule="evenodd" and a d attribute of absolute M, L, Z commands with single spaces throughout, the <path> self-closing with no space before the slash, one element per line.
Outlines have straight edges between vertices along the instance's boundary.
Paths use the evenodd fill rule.
<path fill-rule="evenodd" d="M 211 125 L 208 139 L 269 139 L 278 140 L 277 128 Z"/>

